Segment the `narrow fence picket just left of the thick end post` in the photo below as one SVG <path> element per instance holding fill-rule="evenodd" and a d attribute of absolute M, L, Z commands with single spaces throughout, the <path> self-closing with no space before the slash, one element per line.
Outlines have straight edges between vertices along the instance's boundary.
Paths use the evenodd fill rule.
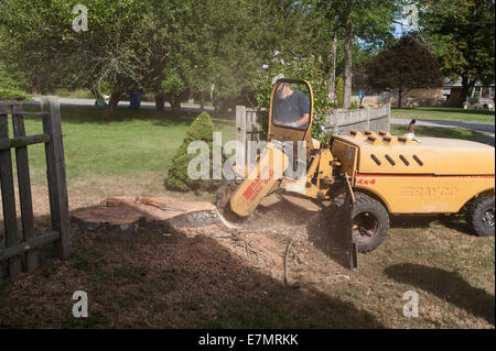
<path fill-rule="evenodd" d="M 19 113 L 17 113 L 19 112 Z M 25 136 L 24 119 L 21 106 L 12 106 L 12 127 L 15 138 Z M 15 163 L 18 167 L 19 199 L 21 202 L 22 233 L 24 242 L 34 238 L 34 215 L 31 195 L 30 166 L 28 146 L 15 147 Z M 33 273 L 37 265 L 37 253 L 30 251 L 25 254 L 25 271 Z"/>

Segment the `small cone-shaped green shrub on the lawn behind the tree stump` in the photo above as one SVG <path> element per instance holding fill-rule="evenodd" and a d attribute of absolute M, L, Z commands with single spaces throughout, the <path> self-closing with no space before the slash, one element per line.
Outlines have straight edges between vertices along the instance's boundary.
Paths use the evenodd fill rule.
<path fill-rule="evenodd" d="M 211 179 L 191 179 L 187 175 L 187 165 L 191 160 L 196 157 L 195 154 L 187 154 L 187 146 L 193 141 L 204 141 L 209 146 L 209 164 L 212 169 L 212 144 L 213 132 L 215 132 L 215 125 L 208 113 L 202 112 L 187 129 L 186 136 L 183 143 L 179 147 L 172 165 L 169 168 L 169 175 L 166 179 L 166 187 L 171 190 L 209 190 L 214 186 L 214 182 Z M 212 172 L 211 176 L 212 176 Z"/>

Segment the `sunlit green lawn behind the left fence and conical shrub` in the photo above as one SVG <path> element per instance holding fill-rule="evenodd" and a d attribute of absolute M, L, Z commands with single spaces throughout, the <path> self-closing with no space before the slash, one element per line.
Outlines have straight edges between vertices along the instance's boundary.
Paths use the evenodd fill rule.
<path fill-rule="evenodd" d="M 86 176 L 164 172 L 197 113 L 173 116 L 154 110 L 117 109 L 112 121 L 95 107 L 62 107 L 62 130 L 68 182 Z M 223 142 L 235 138 L 234 120 L 213 118 Z M 26 119 L 28 134 L 41 133 L 39 118 Z M 30 163 L 44 169 L 43 145 L 30 146 Z M 35 180 L 35 179 L 33 179 Z"/>

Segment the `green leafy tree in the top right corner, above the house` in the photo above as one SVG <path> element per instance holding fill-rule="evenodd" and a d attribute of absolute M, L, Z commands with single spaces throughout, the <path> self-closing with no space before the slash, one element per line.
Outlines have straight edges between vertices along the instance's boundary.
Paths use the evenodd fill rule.
<path fill-rule="evenodd" d="M 444 76 L 462 78 L 461 105 L 477 80 L 494 83 L 494 0 L 422 1 L 425 40 L 440 56 Z"/>

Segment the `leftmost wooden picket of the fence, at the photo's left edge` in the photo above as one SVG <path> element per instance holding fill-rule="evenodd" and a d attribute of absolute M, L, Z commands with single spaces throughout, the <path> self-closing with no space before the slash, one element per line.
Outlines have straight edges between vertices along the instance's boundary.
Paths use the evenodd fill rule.
<path fill-rule="evenodd" d="M 9 139 L 9 119 L 7 112 L 0 114 L 0 139 Z M 20 243 L 12 173 L 12 155 L 10 149 L 0 150 L 0 183 L 2 193 L 6 246 L 10 248 Z M 22 274 L 21 257 L 10 259 L 7 262 L 7 266 L 10 281 L 15 282 L 19 279 Z"/>

